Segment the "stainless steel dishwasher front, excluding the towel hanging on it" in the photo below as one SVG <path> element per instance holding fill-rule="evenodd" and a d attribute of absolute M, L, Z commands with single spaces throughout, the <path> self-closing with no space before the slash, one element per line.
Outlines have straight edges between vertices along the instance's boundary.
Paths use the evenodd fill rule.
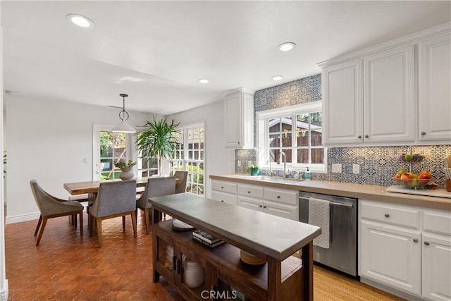
<path fill-rule="evenodd" d="M 309 223 L 309 199 L 330 203 L 329 248 L 313 246 L 314 262 L 357 276 L 357 199 L 299 191 L 299 221 Z"/>

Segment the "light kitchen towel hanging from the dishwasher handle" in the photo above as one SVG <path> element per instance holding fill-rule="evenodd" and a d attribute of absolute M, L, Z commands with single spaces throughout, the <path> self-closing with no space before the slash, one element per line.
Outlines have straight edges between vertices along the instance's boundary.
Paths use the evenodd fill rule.
<path fill-rule="evenodd" d="M 314 238 L 313 244 L 329 248 L 330 202 L 326 199 L 309 198 L 309 224 L 321 227 L 321 235 Z"/>

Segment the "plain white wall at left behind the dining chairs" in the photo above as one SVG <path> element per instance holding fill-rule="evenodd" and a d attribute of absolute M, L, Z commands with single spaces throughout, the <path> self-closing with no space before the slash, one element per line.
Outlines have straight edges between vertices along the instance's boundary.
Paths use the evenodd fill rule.
<path fill-rule="evenodd" d="M 118 110 L 58 100 L 5 97 L 8 153 L 6 223 L 39 218 L 30 180 L 56 197 L 67 198 L 63 183 L 92 180 L 92 125 L 113 125 Z M 152 114 L 129 111 L 131 125 Z M 84 159 L 86 163 L 84 163 Z"/>

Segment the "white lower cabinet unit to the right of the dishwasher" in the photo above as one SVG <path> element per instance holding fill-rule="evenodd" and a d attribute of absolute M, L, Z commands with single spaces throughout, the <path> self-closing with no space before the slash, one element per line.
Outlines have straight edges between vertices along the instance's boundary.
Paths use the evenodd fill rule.
<path fill-rule="evenodd" d="M 451 300 L 451 212 L 359 200 L 359 276 Z"/>

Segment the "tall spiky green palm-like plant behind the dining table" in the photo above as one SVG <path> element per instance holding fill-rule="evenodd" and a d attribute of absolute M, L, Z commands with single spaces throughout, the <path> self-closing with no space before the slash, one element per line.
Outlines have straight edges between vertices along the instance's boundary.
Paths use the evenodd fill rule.
<path fill-rule="evenodd" d="M 178 149 L 178 140 L 175 133 L 178 133 L 179 123 L 174 120 L 167 123 L 166 118 L 156 121 L 147 121 L 144 125 L 147 130 L 136 133 L 137 150 L 141 151 L 141 156 L 147 159 L 155 156 L 158 160 L 159 175 L 161 175 L 161 159 L 171 159 L 173 153 Z"/>

